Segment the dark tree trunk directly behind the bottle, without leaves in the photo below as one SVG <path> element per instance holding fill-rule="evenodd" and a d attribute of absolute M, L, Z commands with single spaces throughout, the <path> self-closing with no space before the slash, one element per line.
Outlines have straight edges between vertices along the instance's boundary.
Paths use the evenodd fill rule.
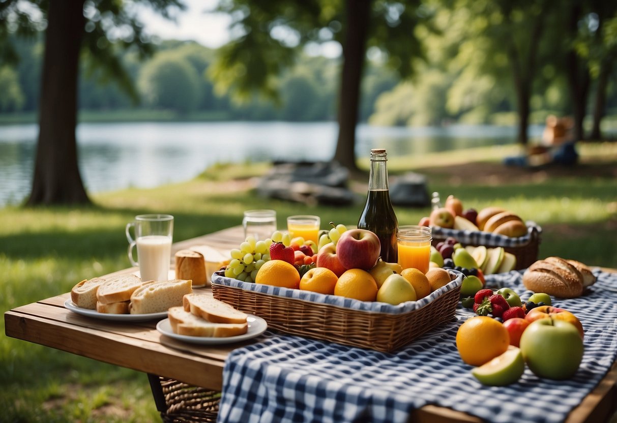
<path fill-rule="evenodd" d="M 355 127 L 360 107 L 360 81 L 366 54 L 370 0 L 347 0 L 347 33 L 343 42 L 343 68 L 339 94 L 339 138 L 334 160 L 351 171 L 355 163 Z"/>

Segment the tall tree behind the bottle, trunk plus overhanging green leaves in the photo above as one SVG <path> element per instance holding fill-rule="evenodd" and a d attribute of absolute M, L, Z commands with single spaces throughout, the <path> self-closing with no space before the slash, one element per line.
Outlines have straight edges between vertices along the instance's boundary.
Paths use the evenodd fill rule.
<path fill-rule="evenodd" d="M 305 46 L 328 41 L 342 47 L 339 83 L 339 136 L 334 160 L 356 170 L 355 127 L 367 49 L 381 51 L 401 76 L 413 72 L 423 56 L 415 27 L 426 16 L 419 0 L 229 0 L 217 10 L 233 17 L 238 34 L 218 51 L 211 75 L 219 92 L 239 98 L 252 92 L 278 97 L 276 75 L 294 62 Z"/>

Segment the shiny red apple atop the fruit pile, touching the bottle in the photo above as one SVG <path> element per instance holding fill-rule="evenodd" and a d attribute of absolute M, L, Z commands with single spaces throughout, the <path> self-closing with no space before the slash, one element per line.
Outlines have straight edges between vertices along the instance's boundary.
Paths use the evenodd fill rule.
<path fill-rule="evenodd" d="M 368 271 L 375 266 L 381 254 L 381 242 L 375 232 L 350 229 L 339 238 L 336 253 L 344 268 Z"/>

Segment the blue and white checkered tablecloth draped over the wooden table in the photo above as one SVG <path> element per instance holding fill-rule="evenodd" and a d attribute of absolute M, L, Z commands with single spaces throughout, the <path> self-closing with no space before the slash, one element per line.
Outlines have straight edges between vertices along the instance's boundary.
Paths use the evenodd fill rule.
<path fill-rule="evenodd" d="M 433 404 L 487 422 L 561 422 L 598 384 L 617 356 L 617 274 L 596 273 L 591 292 L 553 305 L 585 328 L 585 353 L 573 379 L 539 379 L 529 369 L 507 387 L 485 387 L 458 355 L 455 336 L 473 316 L 441 326 L 394 353 L 267 331 L 225 363 L 219 422 L 406 422 Z M 521 272 L 487 278 L 522 298 Z"/>

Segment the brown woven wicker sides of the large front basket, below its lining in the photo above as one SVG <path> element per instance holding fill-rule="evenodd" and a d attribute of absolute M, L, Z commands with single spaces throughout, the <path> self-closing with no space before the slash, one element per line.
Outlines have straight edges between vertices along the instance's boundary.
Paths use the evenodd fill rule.
<path fill-rule="evenodd" d="M 459 276 L 427 305 L 393 314 L 264 294 L 222 284 L 222 279 L 220 274 L 213 277 L 213 296 L 262 317 L 270 329 L 384 352 L 404 347 L 424 332 L 452 320 L 462 283 Z"/>

